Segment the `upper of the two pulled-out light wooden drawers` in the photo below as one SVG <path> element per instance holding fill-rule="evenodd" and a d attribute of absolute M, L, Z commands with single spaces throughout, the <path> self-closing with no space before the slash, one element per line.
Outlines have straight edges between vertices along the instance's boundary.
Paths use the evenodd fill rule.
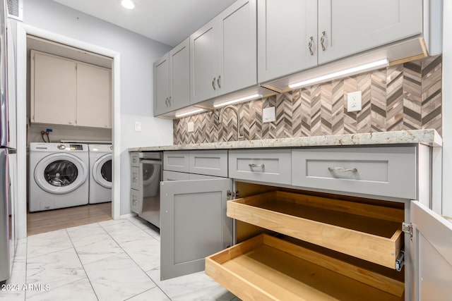
<path fill-rule="evenodd" d="M 227 216 L 396 269 L 403 209 L 273 191 L 227 202 Z"/>

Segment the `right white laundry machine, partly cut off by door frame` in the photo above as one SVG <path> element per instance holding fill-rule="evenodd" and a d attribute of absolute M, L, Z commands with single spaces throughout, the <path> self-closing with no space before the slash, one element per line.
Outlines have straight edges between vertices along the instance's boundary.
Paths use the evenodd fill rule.
<path fill-rule="evenodd" d="M 112 202 L 112 145 L 88 145 L 90 204 Z"/>

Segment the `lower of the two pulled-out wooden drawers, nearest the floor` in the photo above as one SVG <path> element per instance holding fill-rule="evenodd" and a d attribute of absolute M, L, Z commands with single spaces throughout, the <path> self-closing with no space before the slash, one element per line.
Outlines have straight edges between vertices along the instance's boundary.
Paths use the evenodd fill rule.
<path fill-rule="evenodd" d="M 242 300 L 401 300 L 404 283 L 261 234 L 206 258 L 206 274 Z"/>

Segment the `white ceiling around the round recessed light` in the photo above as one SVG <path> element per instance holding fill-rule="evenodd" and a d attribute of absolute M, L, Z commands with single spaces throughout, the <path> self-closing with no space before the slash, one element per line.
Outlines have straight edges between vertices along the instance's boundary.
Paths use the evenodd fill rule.
<path fill-rule="evenodd" d="M 131 11 L 121 0 L 53 1 L 174 47 L 235 0 L 133 0 Z"/>

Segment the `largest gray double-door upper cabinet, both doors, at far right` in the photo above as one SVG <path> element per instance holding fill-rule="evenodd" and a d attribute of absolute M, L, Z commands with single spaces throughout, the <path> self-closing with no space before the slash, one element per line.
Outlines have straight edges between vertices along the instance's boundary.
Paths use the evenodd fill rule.
<path fill-rule="evenodd" d="M 263 0 L 258 82 L 422 33 L 421 0 Z"/>

